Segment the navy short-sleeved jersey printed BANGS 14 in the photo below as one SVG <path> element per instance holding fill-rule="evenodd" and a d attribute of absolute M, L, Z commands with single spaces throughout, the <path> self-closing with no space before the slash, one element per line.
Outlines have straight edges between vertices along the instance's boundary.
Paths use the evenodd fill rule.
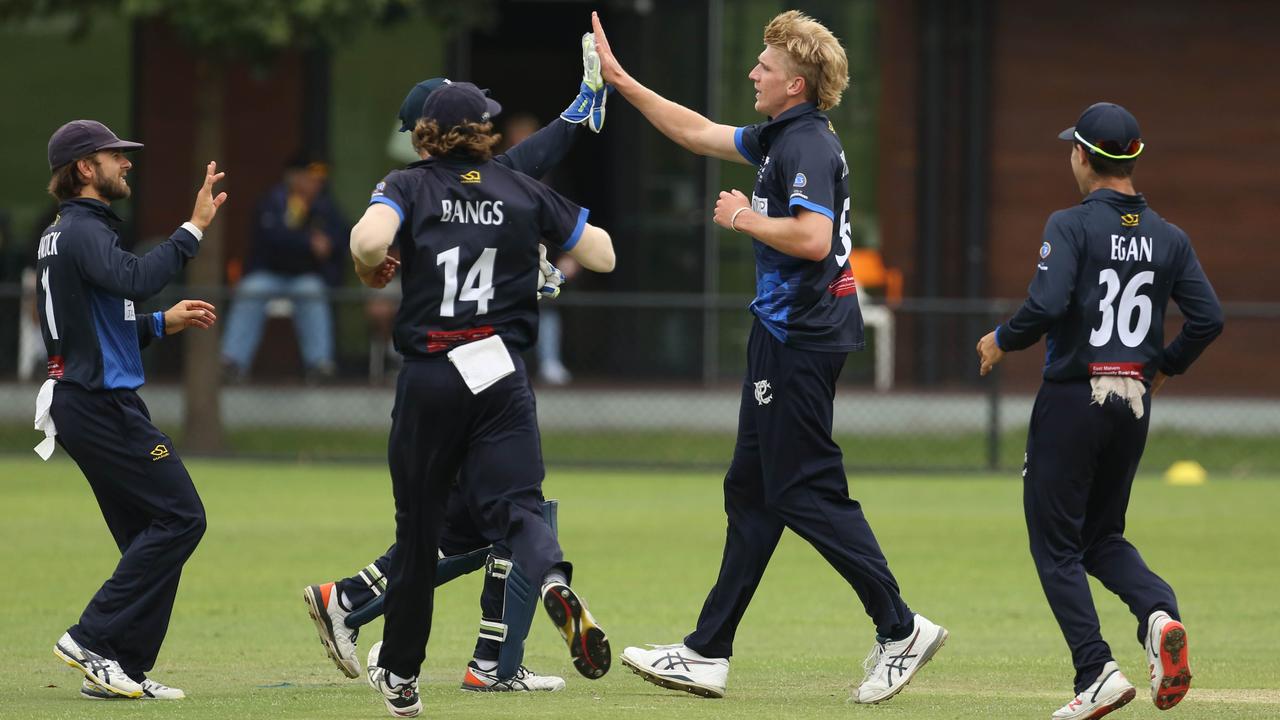
<path fill-rule="evenodd" d="M 516 351 L 538 338 L 538 243 L 572 250 L 588 210 L 497 161 L 429 158 L 378 183 L 370 204 L 401 218 L 404 296 L 396 350 L 406 357 L 498 334 Z"/>

